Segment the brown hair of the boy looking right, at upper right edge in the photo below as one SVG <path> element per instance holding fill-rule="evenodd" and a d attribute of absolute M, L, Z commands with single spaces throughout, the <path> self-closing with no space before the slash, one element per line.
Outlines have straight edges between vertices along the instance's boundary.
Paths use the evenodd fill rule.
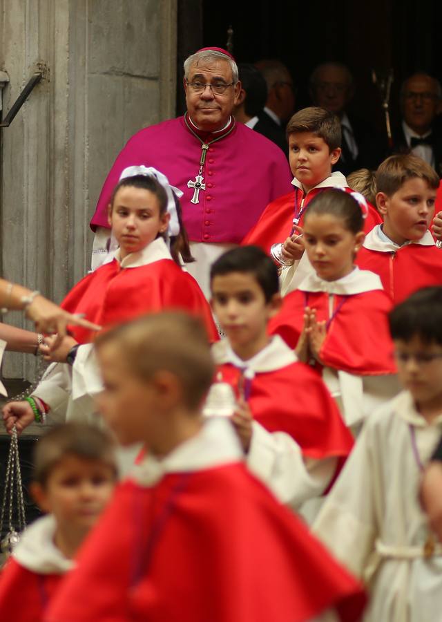
<path fill-rule="evenodd" d="M 392 196 L 407 180 L 416 177 L 425 180 L 434 190 L 439 188 L 439 176 L 430 164 L 412 153 L 401 153 L 379 164 L 376 186 L 378 192 Z"/>

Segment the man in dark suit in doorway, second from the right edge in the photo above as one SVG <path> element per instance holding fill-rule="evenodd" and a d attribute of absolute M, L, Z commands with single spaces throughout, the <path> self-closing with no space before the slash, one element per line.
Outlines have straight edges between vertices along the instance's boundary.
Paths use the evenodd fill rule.
<path fill-rule="evenodd" d="M 309 83 L 314 105 L 322 106 L 340 118 L 342 153 L 333 170 L 347 176 L 362 167 L 376 168 L 383 156 L 381 139 L 369 122 L 347 111 L 354 95 L 353 76 L 349 69 L 340 63 L 318 65 Z"/>

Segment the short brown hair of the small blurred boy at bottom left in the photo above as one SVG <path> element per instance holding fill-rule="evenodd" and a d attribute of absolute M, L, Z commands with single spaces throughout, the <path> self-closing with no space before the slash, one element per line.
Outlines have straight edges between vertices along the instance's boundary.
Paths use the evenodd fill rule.
<path fill-rule="evenodd" d="M 111 435 L 97 426 L 67 423 L 55 426 L 36 442 L 33 480 L 46 486 L 52 471 L 68 455 L 105 462 L 117 478 L 115 442 Z"/>

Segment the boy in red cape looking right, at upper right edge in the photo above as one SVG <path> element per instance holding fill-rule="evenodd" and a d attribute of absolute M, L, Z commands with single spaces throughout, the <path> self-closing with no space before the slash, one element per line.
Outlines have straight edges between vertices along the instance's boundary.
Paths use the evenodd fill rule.
<path fill-rule="evenodd" d="M 376 203 L 384 222 L 366 236 L 356 263 L 381 276 L 399 303 L 426 285 L 442 284 L 442 250 L 429 231 L 439 177 L 430 164 L 403 154 L 376 171 Z"/>

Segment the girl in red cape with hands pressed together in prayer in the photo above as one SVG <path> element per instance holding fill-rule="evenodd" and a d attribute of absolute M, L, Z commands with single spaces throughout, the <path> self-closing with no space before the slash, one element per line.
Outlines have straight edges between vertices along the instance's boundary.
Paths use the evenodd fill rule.
<path fill-rule="evenodd" d="M 365 209 L 363 197 L 356 196 Z M 269 332 L 321 370 L 356 433 L 372 408 L 399 390 L 387 323 L 392 302 L 377 274 L 354 266 L 364 239 L 363 212 L 350 194 L 321 193 L 311 202 L 304 227 L 316 272 L 285 296 Z"/>

